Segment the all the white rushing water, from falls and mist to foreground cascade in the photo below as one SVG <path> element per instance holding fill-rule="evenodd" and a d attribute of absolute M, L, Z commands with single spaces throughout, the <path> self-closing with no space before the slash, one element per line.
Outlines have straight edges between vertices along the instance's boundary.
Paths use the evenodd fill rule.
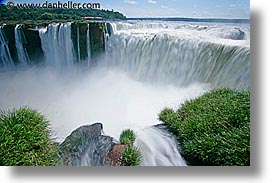
<path fill-rule="evenodd" d="M 152 126 L 160 123 L 164 107 L 176 109 L 211 88 L 250 89 L 249 25 L 142 21 L 112 22 L 108 28 L 105 55 L 85 69 L 76 67 L 79 27 L 77 51 L 71 23 L 40 28 L 45 64 L 0 72 L 0 109 L 38 109 L 51 122 L 57 141 L 96 121 L 117 139 L 123 129 L 132 128 L 142 165 L 186 165 L 175 138 Z M 89 25 L 86 31 L 92 65 Z M 19 60 L 27 64 L 19 25 L 14 33 Z M 0 51 L 1 66 L 12 67 L 2 26 Z"/>

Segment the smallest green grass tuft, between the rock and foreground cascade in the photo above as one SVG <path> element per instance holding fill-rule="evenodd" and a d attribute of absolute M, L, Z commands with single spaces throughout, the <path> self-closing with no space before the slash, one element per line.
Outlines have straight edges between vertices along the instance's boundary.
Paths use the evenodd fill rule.
<path fill-rule="evenodd" d="M 121 144 L 127 145 L 123 153 L 123 166 L 138 166 L 141 162 L 141 155 L 139 149 L 134 146 L 136 140 L 135 132 L 131 129 L 123 130 L 120 134 L 119 141 Z"/>

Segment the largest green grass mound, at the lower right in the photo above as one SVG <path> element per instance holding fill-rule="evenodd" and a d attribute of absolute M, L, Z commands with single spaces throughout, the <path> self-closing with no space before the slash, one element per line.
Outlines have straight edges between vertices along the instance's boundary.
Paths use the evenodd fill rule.
<path fill-rule="evenodd" d="M 190 165 L 250 165 L 250 92 L 216 89 L 175 112 L 164 109 L 159 119 Z"/>

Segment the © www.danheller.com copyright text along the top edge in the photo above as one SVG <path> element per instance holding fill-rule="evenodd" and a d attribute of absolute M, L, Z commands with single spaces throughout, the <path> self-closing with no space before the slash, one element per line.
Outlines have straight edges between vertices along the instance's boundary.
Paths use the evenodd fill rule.
<path fill-rule="evenodd" d="M 48 1 L 45 1 L 44 3 L 14 3 L 12 1 L 9 1 L 6 3 L 6 7 L 8 9 L 12 7 L 16 7 L 18 9 L 100 9 L 100 3 L 74 3 L 73 1 L 57 1 L 54 3 Z"/>

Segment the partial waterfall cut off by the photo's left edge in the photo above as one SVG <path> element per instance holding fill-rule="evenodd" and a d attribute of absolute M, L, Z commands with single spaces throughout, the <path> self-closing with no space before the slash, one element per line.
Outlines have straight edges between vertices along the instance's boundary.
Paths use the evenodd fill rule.
<path fill-rule="evenodd" d="M 0 66 L 9 68 L 14 65 L 3 26 L 0 26 Z"/>

